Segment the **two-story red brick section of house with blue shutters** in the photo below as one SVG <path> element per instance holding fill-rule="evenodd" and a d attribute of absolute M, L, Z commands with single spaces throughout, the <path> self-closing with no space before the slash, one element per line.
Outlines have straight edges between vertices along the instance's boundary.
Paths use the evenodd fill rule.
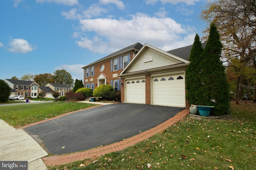
<path fill-rule="evenodd" d="M 142 47 L 142 44 L 136 43 L 82 67 L 84 69 L 84 87 L 94 90 L 102 84 L 111 84 L 116 91 L 121 90 L 118 74 Z"/>

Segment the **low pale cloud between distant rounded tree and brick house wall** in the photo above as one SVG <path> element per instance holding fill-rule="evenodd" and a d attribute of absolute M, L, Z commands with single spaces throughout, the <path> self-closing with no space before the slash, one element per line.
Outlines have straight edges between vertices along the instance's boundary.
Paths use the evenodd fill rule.
<path fill-rule="evenodd" d="M 60 66 L 56 66 L 54 69 L 55 70 L 64 69 L 72 75 L 72 78 L 74 80 L 76 80 L 77 78 L 78 80 L 82 79 L 84 81 L 83 79 L 84 71 L 83 69 L 81 69 L 83 66 L 85 66 L 85 64 L 74 64 L 74 65 L 62 64 Z"/>

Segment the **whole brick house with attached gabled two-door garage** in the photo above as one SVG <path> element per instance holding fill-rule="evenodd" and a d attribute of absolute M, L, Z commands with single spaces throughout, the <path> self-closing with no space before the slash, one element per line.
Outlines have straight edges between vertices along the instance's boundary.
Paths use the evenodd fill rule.
<path fill-rule="evenodd" d="M 204 48 L 205 44 L 202 46 Z M 112 61 L 122 54 L 113 53 L 83 67 L 84 85 L 91 87 L 90 83 L 101 85 L 111 82 L 116 90 L 121 90 L 121 102 L 189 107 L 186 102 L 185 73 L 190 63 L 191 49 L 192 45 L 189 45 L 166 52 L 144 44 L 138 52 L 132 53 L 130 63 L 121 71 L 115 69 Z M 119 64 L 123 66 L 120 59 Z M 102 65 L 107 68 L 106 72 L 101 70 Z M 93 74 L 87 74 L 86 69 L 89 72 L 90 68 L 94 68 Z"/>

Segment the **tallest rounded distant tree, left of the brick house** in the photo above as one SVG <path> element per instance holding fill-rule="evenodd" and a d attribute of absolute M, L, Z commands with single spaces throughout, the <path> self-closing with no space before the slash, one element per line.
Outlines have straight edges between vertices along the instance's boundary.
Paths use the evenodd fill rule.
<path fill-rule="evenodd" d="M 69 87 L 73 86 L 74 80 L 69 72 L 66 70 L 56 70 L 53 73 L 55 83 L 57 84 L 66 84 Z"/>

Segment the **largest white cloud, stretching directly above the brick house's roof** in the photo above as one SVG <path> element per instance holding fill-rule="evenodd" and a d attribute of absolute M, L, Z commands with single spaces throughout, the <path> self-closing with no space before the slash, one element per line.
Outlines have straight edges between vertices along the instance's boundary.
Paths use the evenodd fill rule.
<path fill-rule="evenodd" d="M 148 43 L 165 51 L 191 45 L 195 30 L 177 23 L 172 18 L 156 18 L 137 13 L 130 20 L 110 18 L 80 20 L 86 37 L 76 41 L 78 46 L 97 53 L 112 53 L 136 42 Z M 189 37 L 192 39 L 184 39 Z"/>

